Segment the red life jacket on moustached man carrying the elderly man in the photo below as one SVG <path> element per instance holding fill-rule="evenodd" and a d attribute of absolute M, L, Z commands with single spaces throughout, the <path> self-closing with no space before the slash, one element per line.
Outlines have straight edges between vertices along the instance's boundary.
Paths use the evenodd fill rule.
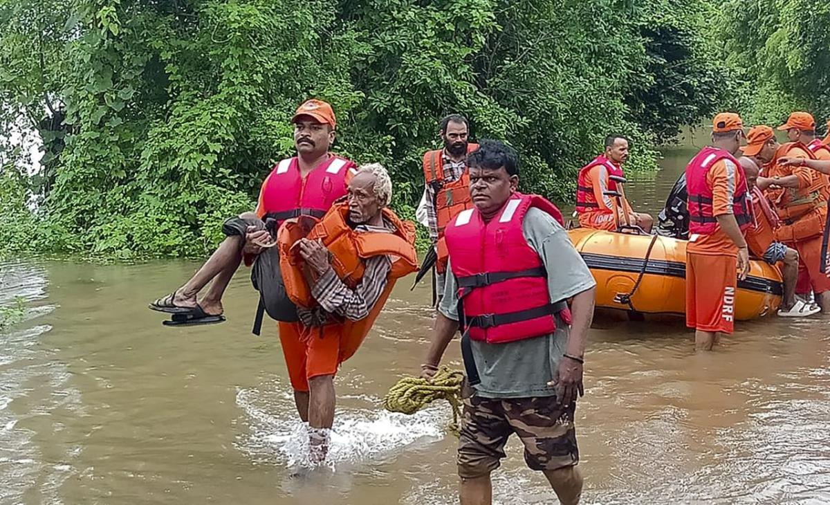
<path fill-rule="evenodd" d="M 262 183 L 261 218 L 276 219 L 276 229 L 289 218 L 300 215 L 322 218 L 332 203 L 346 194 L 346 180 L 354 174 L 355 164 L 332 154 L 320 166 L 300 177 L 297 158 L 283 159 Z"/>

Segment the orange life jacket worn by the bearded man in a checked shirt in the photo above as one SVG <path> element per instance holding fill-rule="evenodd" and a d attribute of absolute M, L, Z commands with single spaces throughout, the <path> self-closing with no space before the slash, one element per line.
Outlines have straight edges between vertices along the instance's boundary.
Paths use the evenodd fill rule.
<path fill-rule="evenodd" d="M 467 154 L 477 149 L 478 144 L 467 144 Z M 447 270 L 449 257 L 447 243 L 444 240 L 444 228 L 447 228 L 447 224 L 458 213 L 473 206 L 470 196 L 470 174 L 465 169 L 457 180 L 444 179 L 444 154 L 443 150 L 437 149 L 427 151 L 423 155 L 423 178 L 435 190 L 435 214 L 438 224 L 436 268 L 438 273 L 443 273 Z"/>

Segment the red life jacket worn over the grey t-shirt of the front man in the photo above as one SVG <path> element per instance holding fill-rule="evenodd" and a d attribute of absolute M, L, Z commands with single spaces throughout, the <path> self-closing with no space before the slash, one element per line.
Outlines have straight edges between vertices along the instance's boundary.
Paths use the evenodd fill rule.
<path fill-rule="evenodd" d="M 472 340 L 488 343 L 543 336 L 556 329 L 554 314 L 570 322 L 568 305 L 550 302 L 547 273 L 527 243 L 522 220 L 531 207 L 563 223 L 548 200 L 513 194 L 489 223 L 476 208 L 461 211 L 444 237 L 458 282 L 459 319 Z"/>

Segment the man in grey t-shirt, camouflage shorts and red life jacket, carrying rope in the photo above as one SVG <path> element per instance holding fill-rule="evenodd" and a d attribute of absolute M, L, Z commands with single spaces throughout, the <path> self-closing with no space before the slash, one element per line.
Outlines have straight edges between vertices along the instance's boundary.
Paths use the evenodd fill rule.
<path fill-rule="evenodd" d="M 583 485 L 574 410 L 583 395 L 596 282 L 559 209 L 516 192 L 514 150 L 482 142 L 467 164 L 475 208 L 447 226 L 452 275 L 421 366 L 422 376 L 434 375 L 461 327 L 467 375 L 457 459 L 461 504 L 492 502 L 490 474 L 515 433 L 528 466 L 544 473 L 561 503 L 573 505 Z"/>

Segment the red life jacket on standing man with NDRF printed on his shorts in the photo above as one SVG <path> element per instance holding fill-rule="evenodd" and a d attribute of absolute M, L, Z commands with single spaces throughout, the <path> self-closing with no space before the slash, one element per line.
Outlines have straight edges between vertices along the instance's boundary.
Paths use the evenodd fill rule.
<path fill-rule="evenodd" d="M 706 174 L 721 159 L 726 159 L 735 164 L 735 170 L 740 174 L 740 183 L 735 188 L 732 202 L 732 213 L 735 214 L 738 226 L 741 230 L 745 230 L 749 223 L 752 223 L 752 210 L 751 205 L 747 202 L 744 169 L 735 159 L 735 156 L 728 151 L 716 147 L 705 147 L 686 165 L 690 233 L 710 235 L 717 228 L 718 220 L 712 211 L 712 189 L 706 184 Z"/>

